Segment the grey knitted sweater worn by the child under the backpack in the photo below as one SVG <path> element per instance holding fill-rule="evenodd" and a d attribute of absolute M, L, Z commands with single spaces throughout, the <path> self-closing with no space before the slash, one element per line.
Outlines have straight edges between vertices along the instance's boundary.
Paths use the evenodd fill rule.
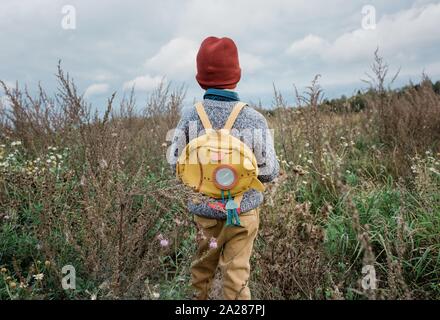
<path fill-rule="evenodd" d="M 213 129 L 221 129 L 236 102 L 205 99 L 203 106 L 211 121 Z M 175 171 L 176 161 L 186 144 L 204 132 L 203 125 L 194 106 L 183 108 L 181 119 L 174 131 L 168 161 Z M 270 182 L 279 172 L 279 164 L 275 156 L 273 135 L 267 126 L 264 116 L 255 109 L 245 106 L 232 127 L 231 134 L 247 144 L 257 159 L 261 182 Z M 188 210 L 196 215 L 215 219 L 226 219 L 226 214 L 208 206 L 209 200 L 195 201 L 189 199 Z M 241 212 L 257 208 L 263 202 L 263 195 L 250 189 L 243 195 Z"/>

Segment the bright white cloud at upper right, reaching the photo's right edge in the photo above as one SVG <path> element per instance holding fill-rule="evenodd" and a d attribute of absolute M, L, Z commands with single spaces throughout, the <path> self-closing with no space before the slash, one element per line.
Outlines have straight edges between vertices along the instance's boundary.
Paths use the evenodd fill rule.
<path fill-rule="evenodd" d="M 423 50 L 440 41 L 438 32 L 440 4 L 412 7 L 392 15 L 384 15 L 375 30 L 356 29 L 334 41 L 309 34 L 293 42 L 287 49 L 292 56 L 320 56 L 327 62 L 365 61 L 379 47 L 388 56 L 407 58 L 410 52 Z"/>

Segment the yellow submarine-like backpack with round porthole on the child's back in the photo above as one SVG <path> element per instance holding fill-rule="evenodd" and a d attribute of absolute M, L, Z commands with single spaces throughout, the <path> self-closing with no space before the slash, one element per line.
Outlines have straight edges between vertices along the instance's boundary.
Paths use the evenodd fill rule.
<path fill-rule="evenodd" d="M 226 225 L 240 226 L 238 213 L 243 194 L 249 189 L 264 191 L 258 180 L 258 165 L 252 150 L 230 130 L 241 109 L 238 102 L 223 129 L 214 130 L 202 103 L 195 105 L 205 134 L 191 140 L 177 159 L 176 174 L 194 191 L 221 202 L 212 208 L 227 213 Z"/>

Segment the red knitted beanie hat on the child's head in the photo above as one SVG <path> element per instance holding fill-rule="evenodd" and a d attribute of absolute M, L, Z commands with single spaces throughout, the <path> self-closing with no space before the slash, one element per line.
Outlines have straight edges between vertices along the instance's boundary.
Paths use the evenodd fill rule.
<path fill-rule="evenodd" d="M 197 82 L 203 89 L 234 89 L 241 78 L 238 50 L 229 38 L 208 37 L 197 54 Z"/>

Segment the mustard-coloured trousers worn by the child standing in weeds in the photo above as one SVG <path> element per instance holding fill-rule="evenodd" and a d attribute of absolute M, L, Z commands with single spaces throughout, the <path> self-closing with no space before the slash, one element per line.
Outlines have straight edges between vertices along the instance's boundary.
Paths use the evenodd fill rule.
<path fill-rule="evenodd" d="M 225 220 L 194 215 L 199 229 L 198 250 L 191 265 L 196 299 L 208 299 L 217 266 L 223 275 L 226 300 L 250 300 L 250 257 L 259 225 L 259 209 L 239 215 L 242 227 L 226 227 Z"/>

